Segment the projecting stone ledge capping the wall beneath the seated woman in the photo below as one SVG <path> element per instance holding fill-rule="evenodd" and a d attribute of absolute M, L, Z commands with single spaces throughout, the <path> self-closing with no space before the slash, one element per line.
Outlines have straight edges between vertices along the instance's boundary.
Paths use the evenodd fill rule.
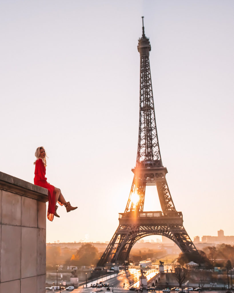
<path fill-rule="evenodd" d="M 46 188 L 34 185 L 3 172 L 0 172 L 0 189 L 38 199 L 42 202 L 48 201 L 48 190 Z"/>

